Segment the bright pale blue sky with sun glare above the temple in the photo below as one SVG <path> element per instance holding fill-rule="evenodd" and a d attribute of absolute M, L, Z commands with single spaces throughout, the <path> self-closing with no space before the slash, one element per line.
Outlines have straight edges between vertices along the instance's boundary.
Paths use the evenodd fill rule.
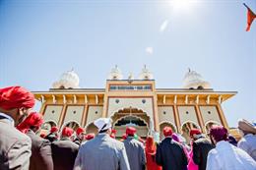
<path fill-rule="evenodd" d="M 74 68 L 80 86 L 104 87 L 118 65 L 158 88 L 179 88 L 188 68 L 218 91 L 230 127 L 256 121 L 256 0 L 0 0 L 0 87 L 48 90 Z"/>

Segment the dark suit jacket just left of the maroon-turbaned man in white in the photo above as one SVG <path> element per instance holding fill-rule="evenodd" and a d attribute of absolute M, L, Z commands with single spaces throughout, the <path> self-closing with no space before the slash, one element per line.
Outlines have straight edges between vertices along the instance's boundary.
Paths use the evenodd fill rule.
<path fill-rule="evenodd" d="M 208 152 L 214 145 L 206 138 L 200 138 L 193 142 L 193 160 L 198 165 L 199 170 L 205 170 Z"/>

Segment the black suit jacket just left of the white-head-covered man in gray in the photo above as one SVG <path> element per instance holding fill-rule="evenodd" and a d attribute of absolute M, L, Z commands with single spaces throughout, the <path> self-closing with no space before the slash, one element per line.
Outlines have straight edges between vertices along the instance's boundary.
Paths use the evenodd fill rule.
<path fill-rule="evenodd" d="M 72 170 L 79 145 L 69 139 L 51 143 L 54 170 Z"/>

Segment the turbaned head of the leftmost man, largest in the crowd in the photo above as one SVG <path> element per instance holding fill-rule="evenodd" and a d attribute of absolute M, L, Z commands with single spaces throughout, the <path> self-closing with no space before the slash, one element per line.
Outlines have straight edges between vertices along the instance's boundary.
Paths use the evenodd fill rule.
<path fill-rule="evenodd" d="M 0 112 L 11 116 L 15 126 L 31 113 L 34 106 L 32 92 L 22 86 L 0 88 Z"/>

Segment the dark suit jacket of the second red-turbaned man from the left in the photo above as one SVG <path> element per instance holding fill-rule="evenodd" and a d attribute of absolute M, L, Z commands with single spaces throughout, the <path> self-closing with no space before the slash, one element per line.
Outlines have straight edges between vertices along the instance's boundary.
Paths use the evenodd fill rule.
<path fill-rule="evenodd" d="M 32 139 L 30 170 L 53 170 L 50 142 L 36 136 L 32 130 L 27 135 Z"/>

